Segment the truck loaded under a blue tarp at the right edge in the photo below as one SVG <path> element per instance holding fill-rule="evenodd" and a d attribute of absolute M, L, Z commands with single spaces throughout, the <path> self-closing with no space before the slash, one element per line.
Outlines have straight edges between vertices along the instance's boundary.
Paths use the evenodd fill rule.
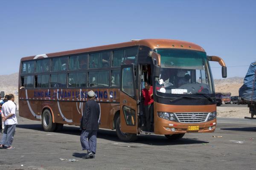
<path fill-rule="evenodd" d="M 241 102 L 250 108 L 251 117 L 244 118 L 256 119 L 253 118 L 256 115 L 256 61 L 250 64 L 244 77 L 244 84 L 239 88 L 239 97 L 241 97 Z"/>

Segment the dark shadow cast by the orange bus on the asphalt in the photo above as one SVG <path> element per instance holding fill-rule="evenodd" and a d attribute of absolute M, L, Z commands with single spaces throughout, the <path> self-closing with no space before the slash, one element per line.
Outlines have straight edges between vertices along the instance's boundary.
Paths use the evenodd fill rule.
<path fill-rule="evenodd" d="M 23 129 L 44 131 L 40 124 L 17 125 L 16 127 L 23 128 Z M 80 136 L 81 130 L 79 130 L 79 127 L 77 126 L 76 127 L 64 126 L 63 130 L 61 131 L 49 132 L 49 133 L 63 133 L 63 134 Z M 112 144 L 112 142 L 113 143 L 122 142 L 117 137 L 115 130 L 100 129 L 98 132 L 97 138 L 111 141 L 109 142 L 109 144 Z M 161 145 L 180 145 L 180 144 L 202 144 L 202 143 L 209 143 L 209 142 L 201 141 L 198 139 L 186 138 L 186 135 L 179 140 L 170 140 L 170 139 L 167 139 L 165 136 L 151 134 L 151 135 L 140 135 L 135 142 L 126 142 L 126 143 L 135 143 L 135 144 L 140 143 L 140 144 L 161 146 Z"/>

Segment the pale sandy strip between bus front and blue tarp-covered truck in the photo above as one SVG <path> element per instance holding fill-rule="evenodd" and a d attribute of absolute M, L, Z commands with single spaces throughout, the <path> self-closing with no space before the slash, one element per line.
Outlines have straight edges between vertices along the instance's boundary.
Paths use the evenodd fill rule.
<path fill-rule="evenodd" d="M 250 117 L 249 108 L 247 105 L 242 107 L 217 107 L 217 117 L 230 117 L 230 118 L 244 118 L 244 116 Z"/>

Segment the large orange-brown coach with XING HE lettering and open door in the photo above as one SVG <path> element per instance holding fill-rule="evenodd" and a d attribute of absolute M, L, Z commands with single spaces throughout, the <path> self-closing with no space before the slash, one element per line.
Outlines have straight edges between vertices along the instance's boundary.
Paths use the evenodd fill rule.
<path fill-rule="evenodd" d="M 42 122 L 45 131 L 80 125 L 87 91 L 96 93 L 101 128 L 123 141 L 139 134 L 180 139 L 214 132 L 216 97 L 209 61 L 200 46 L 178 40 L 132 40 L 113 45 L 23 57 L 19 72 L 19 115 Z M 142 89 L 153 87 L 153 132 L 144 128 Z"/>

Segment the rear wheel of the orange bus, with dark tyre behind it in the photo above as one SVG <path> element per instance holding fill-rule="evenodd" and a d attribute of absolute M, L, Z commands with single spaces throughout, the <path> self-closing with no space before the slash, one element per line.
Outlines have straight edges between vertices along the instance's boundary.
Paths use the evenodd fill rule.
<path fill-rule="evenodd" d="M 42 126 L 44 131 L 53 132 L 56 129 L 56 123 L 52 123 L 52 114 L 49 110 L 44 110 L 42 115 Z"/>

